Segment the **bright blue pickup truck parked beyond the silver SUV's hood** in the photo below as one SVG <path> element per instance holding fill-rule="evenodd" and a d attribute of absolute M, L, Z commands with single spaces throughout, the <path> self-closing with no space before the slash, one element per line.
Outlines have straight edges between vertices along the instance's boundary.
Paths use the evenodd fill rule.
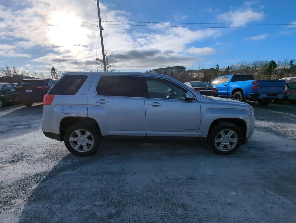
<path fill-rule="evenodd" d="M 218 97 L 230 97 L 242 102 L 258 101 L 260 105 L 282 99 L 285 94 L 285 81 L 254 80 L 253 75 L 224 75 L 217 77 L 212 85 L 218 89 Z"/>

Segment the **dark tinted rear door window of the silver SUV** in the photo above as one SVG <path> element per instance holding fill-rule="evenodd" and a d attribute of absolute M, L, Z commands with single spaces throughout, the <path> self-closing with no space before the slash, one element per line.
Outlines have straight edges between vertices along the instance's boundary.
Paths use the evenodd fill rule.
<path fill-rule="evenodd" d="M 104 96 L 144 97 L 141 77 L 102 76 L 96 92 Z"/>

